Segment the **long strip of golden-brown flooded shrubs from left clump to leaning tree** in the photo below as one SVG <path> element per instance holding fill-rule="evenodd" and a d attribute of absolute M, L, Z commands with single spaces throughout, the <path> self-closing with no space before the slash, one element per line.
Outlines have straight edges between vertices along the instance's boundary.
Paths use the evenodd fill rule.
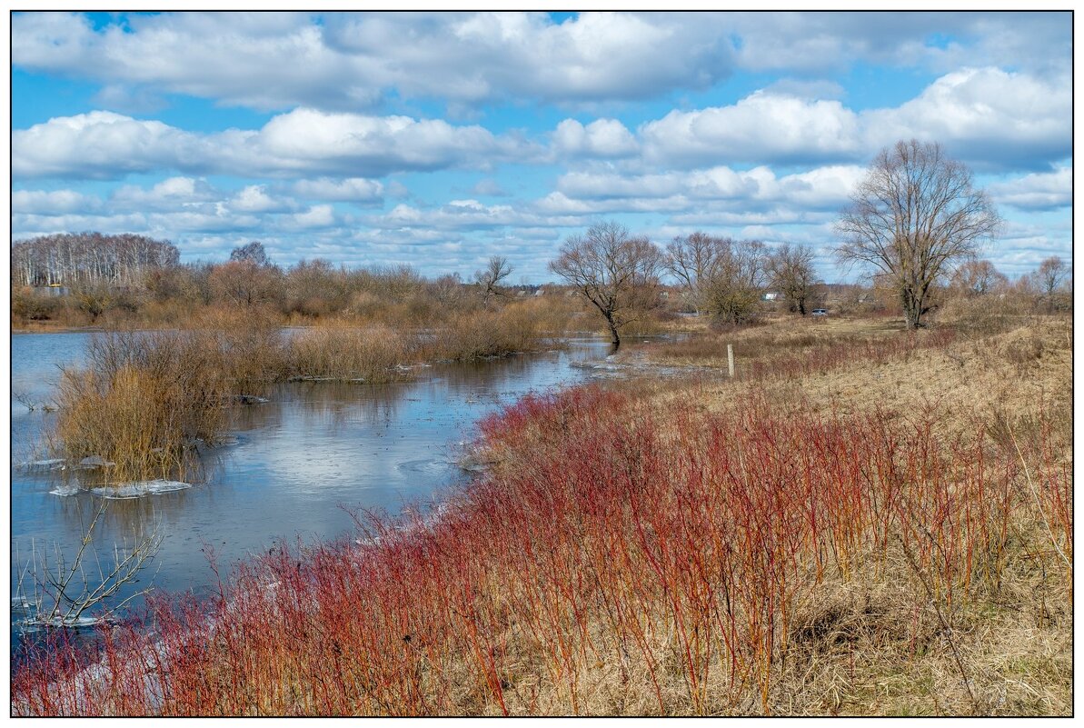
<path fill-rule="evenodd" d="M 552 346 L 531 308 L 450 315 L 430 330 L 323 325 L 284 335 L 271 316 L 217 312 L 184 330 L 114 331 L 61 374 L 47 455 L 109 463 L 104 485 L 198 475 L 197 443 L 217 443 L 237 403 L 285 381 L 386 384 L 434 361 L 473 361 Z"/>

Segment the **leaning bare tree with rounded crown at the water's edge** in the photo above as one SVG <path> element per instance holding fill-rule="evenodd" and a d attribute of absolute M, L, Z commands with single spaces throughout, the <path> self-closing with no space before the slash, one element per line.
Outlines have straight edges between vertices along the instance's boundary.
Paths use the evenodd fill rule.
<path fill-rule="evenodd" d="M 572 285 L 606 319 L 614 346 L 620 330 L 658 306 L 662 254 L 618 222 L 601 222 L 565 241 L 550 270 Z"/>

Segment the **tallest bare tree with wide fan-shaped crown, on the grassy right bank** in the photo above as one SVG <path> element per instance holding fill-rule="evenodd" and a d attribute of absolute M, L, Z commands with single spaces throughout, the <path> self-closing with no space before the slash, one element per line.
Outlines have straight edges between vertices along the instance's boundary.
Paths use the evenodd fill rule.
<path fill-rule="evenodd" d="M 957 260 L 975 255 L 1001 218 L 971 171 L 937 143 L 896 142 L 874 159 L 851 195 L 836 231 L 847 265 L 887 273 L 903 304 L 907 328 L 921 325 L 929 294 Z"/>

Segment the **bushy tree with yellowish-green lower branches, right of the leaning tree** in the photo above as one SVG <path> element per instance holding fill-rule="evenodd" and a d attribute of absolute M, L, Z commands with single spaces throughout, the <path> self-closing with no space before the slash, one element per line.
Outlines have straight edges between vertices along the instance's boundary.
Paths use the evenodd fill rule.
<path fill-rule="evenodd" d="M 711 314 L 726 323 L 740 324 L 760 307 L 767 280 L 764 244 L 756 240 L 723 241 L 711 277 L 704 286 Z"/>

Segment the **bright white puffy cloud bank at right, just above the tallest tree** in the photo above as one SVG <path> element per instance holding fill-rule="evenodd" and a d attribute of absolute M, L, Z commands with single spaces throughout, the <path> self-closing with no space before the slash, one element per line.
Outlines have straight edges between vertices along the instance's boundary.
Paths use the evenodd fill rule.
<path fill-rule="evenodd" d="M 940 141 L 978 169 L 1036 168 L 1071 154 L 1068 77 L 965 68 L 893 108 L 757 91 L 728 106 L 673 111 L 638 129 L 656 166 L 849 162 L 900 139 Z"/>

